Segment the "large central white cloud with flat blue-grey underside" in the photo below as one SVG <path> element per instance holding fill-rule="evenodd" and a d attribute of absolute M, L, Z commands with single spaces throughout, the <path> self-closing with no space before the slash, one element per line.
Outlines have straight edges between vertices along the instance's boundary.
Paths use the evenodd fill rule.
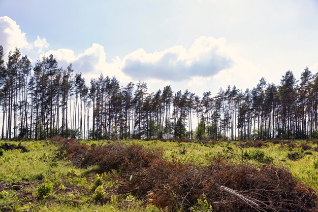
<path fill-rule="evenodd" d="M 200 37 L 189 50 L 183 46 L 153 53 L 138 49 L 123 58 L 122 71 L 138 80 L 210 77 L 233 65 L 231 51 L 224 38 Z"/>

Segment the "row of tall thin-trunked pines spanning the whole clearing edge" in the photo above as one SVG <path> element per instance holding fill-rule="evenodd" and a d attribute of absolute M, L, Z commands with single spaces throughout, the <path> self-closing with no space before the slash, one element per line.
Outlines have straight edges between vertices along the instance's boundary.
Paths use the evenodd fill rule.
<path fill-rule="evenodd" d="M 145 82 L 121 86 L 103 75 L 87 86 L 53 55 L 32 65 L 16 49 L 5 62 L 0 46 L 0 107 L 2 139 L 313 139 L 318 75 L 306 67 L 297 81 L 289 70 L 280 85 L 262 78 L 251 90 L 229 86 L 214 97 L 170 86 L 148 93 Z"/>

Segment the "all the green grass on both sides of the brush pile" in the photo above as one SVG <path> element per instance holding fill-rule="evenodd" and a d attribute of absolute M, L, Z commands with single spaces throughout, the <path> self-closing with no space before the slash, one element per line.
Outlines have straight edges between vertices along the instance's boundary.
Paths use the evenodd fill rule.
<path fill-rule="evenodd" d="M 108 145 L 109 140 L 82 140 L 88 145 Z M 277 166 L 287 167 L 295 178 L 318 191 L 318 152 L 313 149 L 303 151 L 299 145 L 304 141 L 295 141 L 295 148 L 283 147 L 281 144 L 267 143 L 266 147 L 241 148 L 240 142 L 213 142 L 208 144 L 161 142 L 159 140 L 124 140 L 126 145 L 141 145 L 148 148 L 160 148 L 164 159 L 180 160 L 193 163 L 209 163 L 215 158 L 230 160 L 233 163 L 262 163 L 252 157 L 255 152 L 264 153 L 272 158 Z M 1 141 L 0 145 L 5 142 Z M 8 142 L 17 145 L 17 142 Z M 28 152 L 21 150 L 5 151 L 0 156 L 0 209 L 2 211 L 160 211 L 155 206 L 143 207 L 134 197 L 127 201 L 123 196 L 116 196 L 114 188 L 118 185 L 115 175 L 109 173 L 97 175 L 90 166 L 78 168 L 65 158 L 57 158 L 58 147 L 48 141 L 21 142 Z M 317 147 L 308 143 L 310 147 Z M 289 153 L 299 152 L 302 158 L 291 160 Z M 96 182 L 103 178 L 102 184 Z M 14 190 L 12 185 L 21 185 Z M 52 191 L 39 195 L 39 187 L 52 185 Z M 103 189 L 108 201 L 94 199 L 94 191 Z M 93 189 L 92 189 L 93 188 Z M 103 193 L 103 192 L 102 192 Z M 104 195 L 104 194 L 103 194 Z M 115 195 L 115 196 L 114 196 Z M 41 196 L 41 198 L 39 198 Z M 106 198 L 107 199 L 107 198 Z"/>

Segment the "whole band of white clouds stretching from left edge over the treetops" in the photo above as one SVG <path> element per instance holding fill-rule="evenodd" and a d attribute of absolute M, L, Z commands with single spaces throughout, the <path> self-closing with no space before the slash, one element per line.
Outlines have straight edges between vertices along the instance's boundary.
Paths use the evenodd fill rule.
<path fill-rule="evenodd" d="M 104 47 L 97 43 L 79 54 L 72 49 L 46 50 L 49 44 L 45 38 L 38 36 L 36 41 L 27 42 L 26 34 L 15 21 L 0 17 L 0 45 L 7 50 L 21 48 L 23 54 L 31 52 L 36 58 L 53 54 L 59 66 L 66 68 L 72 63 L 75 72 L 82 73 L 88 82 L 103 74 L 115 76 L 122 85 L 146 81 L 152 91 L 166 85 L 199 94 L 209 90 L 217 92 L 219 87 L 227 85 L 246 88 L 265 73 L 252 62 L 238 57 L 225 38 L 199 37 L 188 49 L 173 46 L 147 53 L 140 48 L 122 58 L 107 60 Z"/>

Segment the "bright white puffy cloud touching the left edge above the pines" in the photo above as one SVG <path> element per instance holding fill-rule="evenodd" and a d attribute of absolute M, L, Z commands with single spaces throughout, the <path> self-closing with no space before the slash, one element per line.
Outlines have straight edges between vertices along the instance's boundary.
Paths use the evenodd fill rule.
<path fill-rule="evenodd" d="M 25 33 L 20 26 L 8 16 L 0 17 L 0 45 L 6 52 L 17 48 L 29 48 Z"/>

